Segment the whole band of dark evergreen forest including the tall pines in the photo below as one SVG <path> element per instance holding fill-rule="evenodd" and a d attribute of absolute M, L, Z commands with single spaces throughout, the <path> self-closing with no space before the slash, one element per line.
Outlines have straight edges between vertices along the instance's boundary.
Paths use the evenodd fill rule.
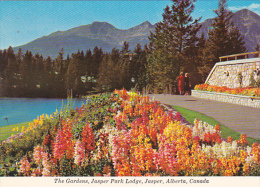
<path fill-rule="evenodd" d="M 0 50 L 1 97 L 79 97 L 125 88 L 150 93 L 176 93 L 176 78 L 188 72 L 191 84 L 203 83 L 220 56 L 246 52 L 243 36 L 231 21 L 226 0 L 219 0 L 208 38 L 197 36 L 200 19 L 193 19 L 195 0 L 172 0 L 150 43 L 104 52 L 102 46 L 78 50 L 55 59 L 12 47 Z"/>

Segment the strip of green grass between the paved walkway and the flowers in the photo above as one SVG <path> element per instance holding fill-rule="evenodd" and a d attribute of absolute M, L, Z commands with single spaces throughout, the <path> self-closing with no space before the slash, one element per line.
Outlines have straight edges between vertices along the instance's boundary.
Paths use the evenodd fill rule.
<path fill-rule="evenodd" d="M 213 118 L 210 118 L 202 113 L 199 113 L 199 112 L 195 112 L 193 110 L 189 110 L 189 109 L 186 109 L 186 108 L 183 108 L 183 107 L 180 107 L 180 106 L 172 106 L 175 110 L 179 111 L 181 113 L 181 115 L 191 124 L 193 124 L 194 120 L 196 118 L 198 118 L 199 120 L 201 121 L 205 121 L 207 122 L 208 124 L 212 125 L 212 126 L 215 126 L 217 124 L 220 125 L 220 130 L 221 130 L 221 137 L 223 138 L 228 138 L 229 136 L 232 136 L 233 140 L 238 140 L 240 139 L 240 133 L 226 127 L 225 125 L 222 125 L 221 123 L 219 123 L 218 121 L 216 121 L 215 119 Z M 255 138 L 247 138 L 247 141 L 249 143 L 250 146 L 252 146 L 252 144 L 254 142 L 258 142 L 260 143 L 260 139 L 255 139 Z"/>

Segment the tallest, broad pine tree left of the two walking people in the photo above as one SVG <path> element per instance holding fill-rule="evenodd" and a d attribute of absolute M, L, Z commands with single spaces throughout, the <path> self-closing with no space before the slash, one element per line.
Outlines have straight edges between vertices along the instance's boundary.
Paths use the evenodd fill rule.
<path fill-rule="evenodd" d="M 153 87 L 157 87 L 160 83 L 159 80 L 156 80 L 156 78 L 161 79 L 159 75 L 164 77 L 164 73 L 166 73 L 167 76 L 170 76 L 163 79 L 163 83 L 161 82 L 159 86 L 167 87 L 173 83 L 180 70 L 190 66 L 191 61 L 188 60 L 187 55 L 193 51 L 198 41 L 196 34 L 201 27 L 198 23 L 200 19 L 193 20 L 191 17 L 195 0 L 172 0 L 172 2 L 171 8 L 167 6 L 164 9 L 163 21 L 156 24 L 155 32 L 151 33 L 149 37 L 152 55 L 148 60 L 150 63 L 148 68 L 158 67 L 157 71 L 162 71 L 148 70 L 149 82 Z M 160 53 L 166 56 L 162 56 Z M 166 64 L 161 64 L 162 62 Z M 163 69 L 159 65 L 163 66 Z M 168 66 L 167 71 L 166 65 Z"/>

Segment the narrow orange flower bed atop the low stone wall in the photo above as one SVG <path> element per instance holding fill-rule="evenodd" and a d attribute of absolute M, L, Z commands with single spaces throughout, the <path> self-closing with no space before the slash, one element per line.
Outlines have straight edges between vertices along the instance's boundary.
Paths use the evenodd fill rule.
<path fill-rule="evenodd" d="M 260 97 L 260 87 L 259 88 L 227 88 L 225 86 L 211 86 L 208 84 L 199 84 L 196 85 L 195 90 L 208 91 L 208 92 L 218 92 L 218 93 L 227 93 L 235 95 L 244 95 L 244 96 L 253 96 Z"/>

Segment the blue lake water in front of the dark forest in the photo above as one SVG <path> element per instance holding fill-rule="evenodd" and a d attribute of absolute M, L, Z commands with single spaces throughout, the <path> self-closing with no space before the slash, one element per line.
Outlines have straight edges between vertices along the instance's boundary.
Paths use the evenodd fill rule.
<path fill-rule="evenodd" d="M 32 121 L 42 114 L 52 114 L 67 104 L 67 99 L 45 98 L 0 98 L 0 126 Z M 86 99 L 73 99 L 75 106 L 81 107 Z"/>

